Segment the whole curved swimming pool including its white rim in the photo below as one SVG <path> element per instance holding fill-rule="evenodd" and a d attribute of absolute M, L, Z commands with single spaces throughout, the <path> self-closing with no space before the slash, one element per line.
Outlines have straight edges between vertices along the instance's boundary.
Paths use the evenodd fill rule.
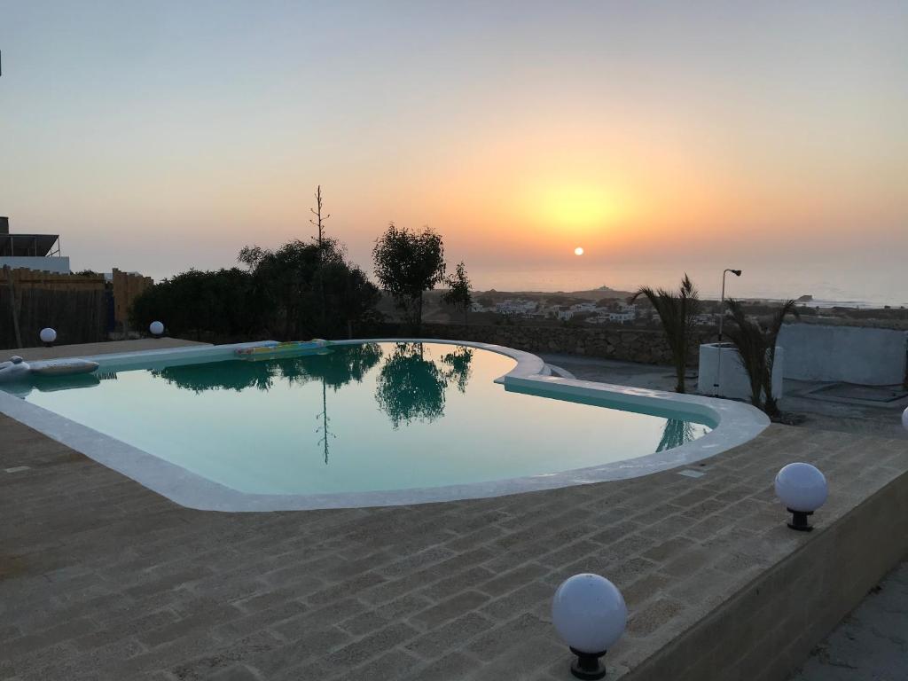
<path fill-rule="evenodd" d="M 94 375 L 7 386 L 0 410 L 183 505 L 230 510 L 626 478 L 765 427 L 745 405 L 559 379 L 484 344 L 344 341 L 263 360 L 236 347 L 101 355 Z"/>

